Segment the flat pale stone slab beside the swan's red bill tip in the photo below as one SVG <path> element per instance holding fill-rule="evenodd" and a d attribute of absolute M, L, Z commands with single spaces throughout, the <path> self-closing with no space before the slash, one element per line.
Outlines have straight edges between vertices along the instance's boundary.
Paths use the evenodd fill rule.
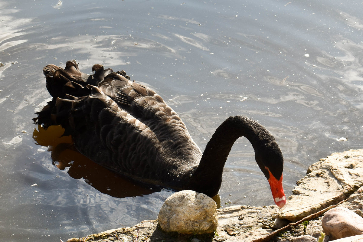
<path fill-rule="evenodd" d="M 337 204 L 363 185 L 363 149 L 333 153 L 310 165 L 273 218 L 295 222 Z"/>

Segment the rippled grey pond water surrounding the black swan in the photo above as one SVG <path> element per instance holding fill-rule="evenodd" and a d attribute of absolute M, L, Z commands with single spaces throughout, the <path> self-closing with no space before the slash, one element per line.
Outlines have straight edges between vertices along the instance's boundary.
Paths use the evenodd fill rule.
<path fill-rule="evenodd" d="M 284 154 L 289 196 L 310 164 L 362 148 L 362 7 L 336 0 L 0 0 L 3 241 L 65 241 L 131 226 L 155 219 L 173 193 L 115 177 L 38 130 L 34 112 L 50 97 L 45 65 L 75 59 L 86 73 L 95 63 L 125 70 L 178 112 L 202 150 L 228 116 L 259 120 Z M 246 139 L 232 148 L 220 197 L 223 206 L 273 204 Z"/>

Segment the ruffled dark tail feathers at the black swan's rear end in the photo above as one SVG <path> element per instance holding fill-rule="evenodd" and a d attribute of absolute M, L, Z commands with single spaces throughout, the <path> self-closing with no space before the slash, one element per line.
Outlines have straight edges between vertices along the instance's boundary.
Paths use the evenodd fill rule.
<path fill-rule="evenodd" d="M 53 64 L 45 66 L 43 74 L 46 78 L 46 88 L 53 99 L 36 113 L 34 123 L 42 125 L 45 129 L 52 125 L 61 125 L 65 129 L 64 135 L 72 134 L 75 129 L 77 132 L 82 130 L 85 125 L 82 122 L 83 116 L 91 110 L 85 110 L 79 103 L 100 92 L 97 85 L 102 83 L 107 75 L 116 74 L 112 69 L 104 69 L 99 64 L 94 65 L 92 71 L 92 75 L 82 73 L 75 61 L 66 62 L 64 69 Z M 130 79 L 125 71 L 117 73 Z"/>

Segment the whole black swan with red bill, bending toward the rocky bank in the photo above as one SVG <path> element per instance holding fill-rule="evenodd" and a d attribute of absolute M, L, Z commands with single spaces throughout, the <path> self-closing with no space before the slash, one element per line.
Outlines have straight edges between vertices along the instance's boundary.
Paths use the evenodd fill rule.
<path fill-rule="evenodd" d="M 82 73 L 75 61 L 65 69 L 43 68 L 52 101 L 37 112 L 36 124 L 61 125 L 74 146 L 96 163 L 131 179 L 175 190 L 194 190 L 212 197 L 219 193 L 222 172 L 236 139 L 245 136 L 269 181 L 280 208 L 284 159 L 274 137 L 245 116 L 229 117 L 213 134 L 204 153 L 183 121 L 148 87 L 130 81 L 125 71 L 102 65 L 93 75 Z"/>

